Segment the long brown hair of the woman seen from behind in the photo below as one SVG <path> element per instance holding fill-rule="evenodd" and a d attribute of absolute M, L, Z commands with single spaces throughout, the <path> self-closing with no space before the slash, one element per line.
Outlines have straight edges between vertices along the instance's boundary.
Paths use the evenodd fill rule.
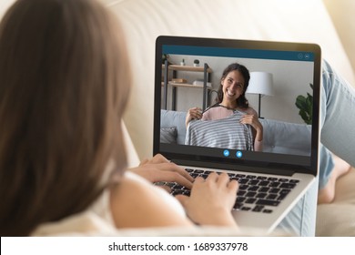
<path fill-rule="evenodd" d="M 95 0 L 19 0 L 0 24 L 0 232 L 27 235 L 86 209 L 110 158 L 129 68 L 121 30 Z"/>

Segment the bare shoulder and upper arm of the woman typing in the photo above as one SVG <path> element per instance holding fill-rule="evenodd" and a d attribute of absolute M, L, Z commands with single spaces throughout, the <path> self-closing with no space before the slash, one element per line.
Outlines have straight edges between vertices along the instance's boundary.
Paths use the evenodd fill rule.
<path fill-rule="evenodd" d="M 190 225 L 176 199 L 140 177 L 125 176 L 111 190 L 110 203 L 117 228 Z"/>

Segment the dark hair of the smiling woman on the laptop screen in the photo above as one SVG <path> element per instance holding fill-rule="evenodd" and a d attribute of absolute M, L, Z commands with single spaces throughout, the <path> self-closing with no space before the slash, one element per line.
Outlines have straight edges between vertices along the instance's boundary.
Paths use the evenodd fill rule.
<path fill-rule="evenodd" d="M 247 98 L 245 97 L 245 93 L 247 91 L 247 88 L 249 86 L 249 79 L 250 79 L 250 74 L 249 70 L 247 69 L 246 66 L 240 65 L 238 63 L 233 63 L 230 64 L 229 66 L 224 69 L 223 74 L 220 78 L 220 82 L 228 76 L 228 74 L 232 71 L 238 71 L 243 77 L 244 77 L 244 87 L 243 87 L 243 93 L 240 95 L 240 97 L 237 98 L 237 106 L 241 108 L 248 108 L 249 103 Z M 216 103 L 220 104 L 223 101 L 223 87 L 222 84 L 219 84 L 218 87 L 218 96 L 216 97 Z"/>

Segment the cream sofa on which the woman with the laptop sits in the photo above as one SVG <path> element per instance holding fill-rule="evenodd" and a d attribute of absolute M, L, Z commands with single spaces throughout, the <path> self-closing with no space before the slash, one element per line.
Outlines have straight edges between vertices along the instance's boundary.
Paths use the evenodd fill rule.
<path fill-rule="evenodd" d="M 137 165 L 139 159 L 152 156 L 154 56 L 157 36 L 313 42 L 321 46 L 323 57 L 351 84 L 355 84 L 354 71 L 348 57 L 355 54 L 347 55 L 345 52 L 326 5 L 321 0 L 101 1 L 120 19 L 124 36 L 127 38 L 127 51 L 134 77 L 131 98 L 124 117 L 131 166 Z M 13 2 L 14 0 L 0 1 L 0 17 Z M 344 9 L 349 13 L 347 2 L 352 5 L 350 1 L 340 0 L 341 6 L 345 6 Z M 339 1 L 337 5 L 338 3 Z M 336 24 L 338 28 L 341 27 L 341 20 Z M 347 33 L 340 35 L 354 35 L 353 26 L 347 26 L 346 29 Z M 348 47 L 348 50 L 354 49 Z M 142 123 L 144 125 L 141 125 Z M 355 170 L 340 179 L 335 201 L 319 206 L 317 235 L 355 236 L 353 183 Z M 158 231 L 153 232 L 153 235 L 158 235 Z"/>

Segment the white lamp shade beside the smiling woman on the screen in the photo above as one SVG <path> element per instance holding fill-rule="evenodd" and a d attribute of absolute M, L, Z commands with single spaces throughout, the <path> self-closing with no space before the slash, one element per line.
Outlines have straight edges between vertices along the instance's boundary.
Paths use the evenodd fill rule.
<path fill-rule="evenodd" d="M 266 72 L 250 72 L 247 93 L 274 96 L 272 74 Z"/>

